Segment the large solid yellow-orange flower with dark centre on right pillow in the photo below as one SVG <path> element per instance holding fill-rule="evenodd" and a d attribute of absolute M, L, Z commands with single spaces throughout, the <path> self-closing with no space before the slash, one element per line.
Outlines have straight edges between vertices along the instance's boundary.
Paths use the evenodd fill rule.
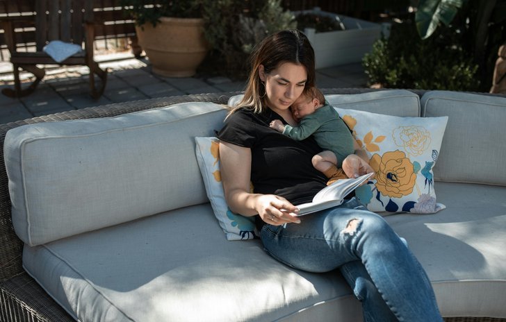
<path fill-rule="evenodd" d="M 370 158 L 369 164 L 376 175 L 376 188 L 384 196 L 401 198 L 413 192 L 416 183 L 416 173 L 413 164 L 402 151 L 377 154 Z"/>

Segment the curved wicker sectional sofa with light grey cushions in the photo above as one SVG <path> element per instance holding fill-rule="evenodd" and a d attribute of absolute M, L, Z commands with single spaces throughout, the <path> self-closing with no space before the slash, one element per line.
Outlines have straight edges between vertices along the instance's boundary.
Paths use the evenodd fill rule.
<path fill-rule="evenodd" d="M 324 93 L 345 110 L 448 117 L 424 175 L 446 209 L 380 214 L 421 261 L 447 322 L 506 321 L 505 96 Z M 0 126 L 0 321 L 362 321 L 337 271 L 291 269 L 254 231 L 239 223 L 247 240 L 229 240 L 217 219 L 195 137 L 215 135 L 236 94 Z"/>

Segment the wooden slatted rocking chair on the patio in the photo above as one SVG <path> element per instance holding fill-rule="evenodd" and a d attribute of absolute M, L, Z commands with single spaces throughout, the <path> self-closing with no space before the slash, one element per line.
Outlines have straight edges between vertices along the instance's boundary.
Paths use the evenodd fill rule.
<path fill-rule="evenodd" d="M 2 93 L 10 97 L 20 97 L 33 92 L 45 75 L 44 69 L 37 67 L 38 64 L 86 65 L 90 68 L 91 96 L 95 99 L 99 98 L 106 87 L 107 70 L 101 69 L 93 60 L 93 40 L 95 38 L 93 1 L 35 0 L 33 3 L 34 16 L 0 18 L 14 73 L 14 89 L 5 88 Z M 15 23 L 19 21 L 35 26 L 34 52 L 17 50 Z M 70 56 L 63 62 L 56 62 L 42 50 L 51 40 L 79 44 L 83 51 Z M 22 89 L 19 80 L 19 69 L 29 71 L 35 76 L 33 83 L 24 89 Z M 95 86 L 95 75 L 101 79 L 99 87 Z"/>

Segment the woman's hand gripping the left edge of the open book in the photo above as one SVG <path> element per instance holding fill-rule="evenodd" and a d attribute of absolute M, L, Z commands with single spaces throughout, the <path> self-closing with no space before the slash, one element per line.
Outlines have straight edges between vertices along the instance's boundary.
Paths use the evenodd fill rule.
<path fill-rule="evenodd" d="M 300 223 L 300 219 L 294 216 L 299 212 L 298 208 L 283 197 L 274 194 L 259 195 L 256 198 L 255 208 L 261 219 L 271 225 Z"/>

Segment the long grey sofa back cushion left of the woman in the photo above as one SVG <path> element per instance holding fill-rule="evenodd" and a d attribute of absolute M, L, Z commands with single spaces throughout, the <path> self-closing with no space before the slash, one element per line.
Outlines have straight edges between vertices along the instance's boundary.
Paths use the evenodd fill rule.
<path fill-rule="evenodd" d="M 213 135 L 225 114 L 214 103 L 181 103 L 8 131 L 17 235 L 34 246 L 206 203 L 194 137 Z"/>

